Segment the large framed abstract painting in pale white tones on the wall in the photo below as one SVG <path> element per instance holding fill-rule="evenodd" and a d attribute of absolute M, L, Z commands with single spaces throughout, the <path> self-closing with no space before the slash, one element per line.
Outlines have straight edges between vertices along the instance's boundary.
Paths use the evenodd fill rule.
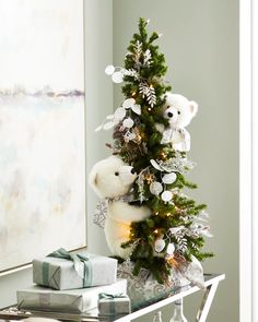
<path fill-rule="evenodd" d="M 0 272 L 85 247 L 83 0 L 0 0 Z"/>

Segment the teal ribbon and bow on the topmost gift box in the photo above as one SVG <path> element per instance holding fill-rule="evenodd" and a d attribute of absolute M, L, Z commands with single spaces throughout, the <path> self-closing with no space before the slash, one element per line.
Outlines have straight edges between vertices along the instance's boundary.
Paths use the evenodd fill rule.
<path fill-rule="evenodd" d="M 47 258 L 64 259 L 73 262 L 73 266 L 78 275 L 83 279 L 83 287 L 92 286 L 92 263 L 90 255 L 70 253 L 63 248 L 51 252 Z M 44 285 L 49 284 L 49 263 L 43 263 L 43 282 Z"/>

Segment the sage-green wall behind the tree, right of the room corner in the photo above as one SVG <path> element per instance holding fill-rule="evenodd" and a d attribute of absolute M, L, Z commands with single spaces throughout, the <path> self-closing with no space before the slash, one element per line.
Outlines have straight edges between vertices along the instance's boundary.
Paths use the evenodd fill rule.
<path fill-rule="evenodd" d="M 140 16 L 150 17 L 150 29 L 162 33 L 161 50 L 169 67 L 173 92 L 199 103 L 189 126 L 190 158 L 197 162 L 190 178 L 199 189 L 189 194 L 209 205 L 214 238 L 207 249 L 207 272 L 226 274 L 208 321 L 238 318 L 238 1 L 114 0 L 114 63 L 121 65 Z M 115 86 L 114 103 L 120 100 Z M 192 312 L 199 297 L 186 301 Z M 187 309 L 188 308 L 188 309 Z M 169 309 L 171 310 L 171 309 Z M 171 312 L 164 311 L 164 320 Z M 150 319 L 149 319 L 150 320 Z"/>

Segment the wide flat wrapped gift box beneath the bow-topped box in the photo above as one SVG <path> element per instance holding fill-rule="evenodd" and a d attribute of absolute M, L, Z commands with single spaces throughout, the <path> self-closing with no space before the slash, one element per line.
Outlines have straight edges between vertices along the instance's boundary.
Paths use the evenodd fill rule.
<path fill-rule="evenodd" d="M 127 294 L 127 281 L 115 284 L 69 290 L 52 290 L 42 286 L 17 290 L 17 308 L 25 310 L 81 313 L 97 307 L 99 293 Z"/>

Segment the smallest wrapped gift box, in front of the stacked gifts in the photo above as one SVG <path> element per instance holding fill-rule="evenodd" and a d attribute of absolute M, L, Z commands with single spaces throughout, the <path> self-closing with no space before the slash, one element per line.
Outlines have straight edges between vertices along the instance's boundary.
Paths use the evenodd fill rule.
<path fill-rule="evenodd" d="M 125 315 L 131 313 L 131 302 L 125 294 L 101 293 L 97 307 L 101 315 Z"/>

